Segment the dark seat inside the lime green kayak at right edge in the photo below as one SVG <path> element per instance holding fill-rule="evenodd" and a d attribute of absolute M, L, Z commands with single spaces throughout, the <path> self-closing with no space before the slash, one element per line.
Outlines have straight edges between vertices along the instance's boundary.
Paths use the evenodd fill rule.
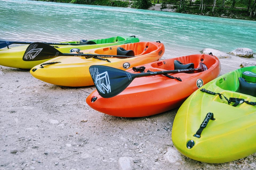
<path fill-rule="evenodd" d="M 239 93 L 256 97 L 256 83 L 248 83 L 244 78 L 239 77 Z"/>

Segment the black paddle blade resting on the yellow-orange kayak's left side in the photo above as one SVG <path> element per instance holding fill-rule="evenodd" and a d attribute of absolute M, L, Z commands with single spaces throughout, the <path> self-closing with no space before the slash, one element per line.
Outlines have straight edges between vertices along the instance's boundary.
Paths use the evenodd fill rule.
<path fill-rule="evenodd" d="M 24 61 L 38 61 L 61 56 L 62 53 L 56 48 L 42 42 L 31 43 L 24 55 Z"/>

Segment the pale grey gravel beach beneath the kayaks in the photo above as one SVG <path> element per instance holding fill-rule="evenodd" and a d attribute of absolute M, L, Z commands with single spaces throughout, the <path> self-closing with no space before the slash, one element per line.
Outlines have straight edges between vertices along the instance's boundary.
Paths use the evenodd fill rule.
<path fill-rule="evenodd" d="M 255 59 L 220 59 L 221 74 Z M 0 169 L 255 169 L 256 154 L 224 164 L 181 155 L 171 140 L 178 108 L 144 118 L 91 109 L 89 87 L 62 87 L 0 66 Z"/>

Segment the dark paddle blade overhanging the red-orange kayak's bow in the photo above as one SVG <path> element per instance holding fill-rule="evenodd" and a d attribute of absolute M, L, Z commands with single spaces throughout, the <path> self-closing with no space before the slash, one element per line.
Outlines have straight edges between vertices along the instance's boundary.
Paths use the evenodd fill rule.
<path fill-rule="evenodd" d="M 118 95 L 136 77 L 136 74 L 108 66 L 90 66 L 89 71 L 99 95 L 103 98 Z"/>

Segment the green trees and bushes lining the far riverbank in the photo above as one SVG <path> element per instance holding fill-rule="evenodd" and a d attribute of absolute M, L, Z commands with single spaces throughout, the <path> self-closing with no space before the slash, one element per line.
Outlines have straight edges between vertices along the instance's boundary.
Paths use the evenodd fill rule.
<path fill-rule="evenodd" d="M 214 13 L 212 13 L 214 0 L 203 0 L 203 9 L 199 10 L 201 0 L 192 2 L 189 6 L 190 0 L 133 0 L 118 1 L 118 0 L 37 0 L 37 1 L 50 1 L 50 2 L 66 2 L 66 3 L 79 3 L 89 5 L 105 5 L 116 7 L 132 7 L 139 9 L 148 9 L 153 3 L 174 4 L 172 7 L 176 12 L 188 14 L 209 15 L 215 17 L 225 18 L 239 18 L 239 19 L 256 19 L 256 0 L 225 0 L 224 8 L 222 7 L 223 0 L 216 0 Z M 233 3 L 233 8 L 232 8 Z M 249 6 L 249 8 L 248 8 Z M 237 9 L 237 7 L 242 9 Z"/>

